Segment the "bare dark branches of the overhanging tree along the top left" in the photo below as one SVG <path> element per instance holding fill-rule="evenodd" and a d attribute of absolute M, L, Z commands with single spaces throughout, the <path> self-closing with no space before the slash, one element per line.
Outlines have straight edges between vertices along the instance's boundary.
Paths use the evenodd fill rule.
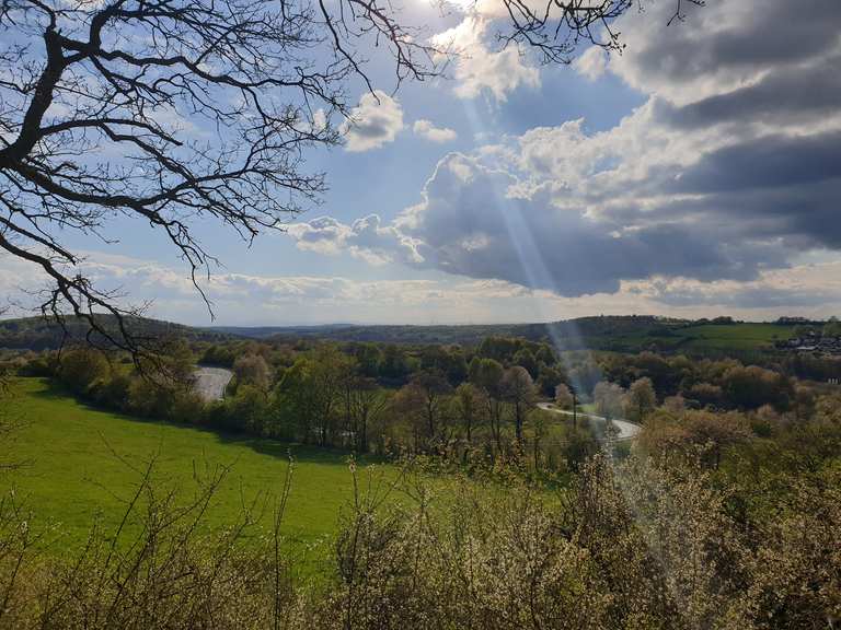
<path fill-rule="evenodd" d="M 504 39 L 554 61 L 583 38 L 617 48 L 609 24 L 633 4 L 502 2 Z M 69 235 L 146 221 L 201 292 L 217 259 L 196 223 L 246 241 L 283 229 L 324 190 L 303 155 L 341 141 L 348 81 L 373 90 L 366 50 L 390 51 L 399 85 L 439 72 L 429 42 L 384 0 L 0 0 L 0 249 L 46 278 L 45 316 L 134 351 L 125 319 L 143 305 L 94 284 Z"/>

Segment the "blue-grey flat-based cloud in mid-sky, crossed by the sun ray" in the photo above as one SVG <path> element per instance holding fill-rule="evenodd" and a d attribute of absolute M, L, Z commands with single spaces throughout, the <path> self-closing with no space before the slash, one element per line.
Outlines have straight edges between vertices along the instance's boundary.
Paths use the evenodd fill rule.
<path fill-rule="evenodd" d="M 509 175 L 464 156 L 442 160 L 405 230 L 424 243 L 420 266 L 578 296 L 660 275 L 751 280 L 769 259 L 781 261 L 770 250 L 776 245 L 734 244 L 714 222 L 625 230 L 586 217 L 585 207 L 558 209 L 548 195 L 510 198 L 509 183 Z"/>

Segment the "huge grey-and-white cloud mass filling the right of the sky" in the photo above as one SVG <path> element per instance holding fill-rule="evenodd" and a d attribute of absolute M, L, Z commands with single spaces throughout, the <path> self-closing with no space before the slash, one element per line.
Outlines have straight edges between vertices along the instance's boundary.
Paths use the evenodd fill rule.
<path fill-rule="evenodd" d="M 647 91 L 643 106 L 597 133 L 569 120 L 445 156 L 419 203 L 378 218 L 377 256 L 563 296 L 658 279 L 723 300 L 841 249 L 841 4 L 708 2 L 670 27 L 666 4 L 623 18 L 620 59 L 577 66 Z"/>

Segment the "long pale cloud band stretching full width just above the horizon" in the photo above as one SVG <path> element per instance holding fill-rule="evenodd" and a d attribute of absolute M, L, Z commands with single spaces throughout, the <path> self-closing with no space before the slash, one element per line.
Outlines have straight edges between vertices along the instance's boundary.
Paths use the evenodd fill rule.
<path fill-rule="evenodd" d="M 196 325 L 210 324 L 206 307 L 183 269 L 100 252 L 85 253 L 84 272 L 103 288 L 126 289 L 137 302 L 151 301 L 149 316 Z M 37 301 L 26 290 L 46 280 L 26 262 L 0 256 L 0 288 L 22 304 Z M 699 282 L 653 277 L 623 281 L 617 292 L 564 298 L 503 280 L 463 277 L 371 280 L 341 276 L 255 276 L 214 273 L 203 282 L 216 322 L 229 325 L 349 323 L 465 324 L 546 322 L 603 314 L 659 313 L 708 317 L 726 313 L 744 318 L 779 315 L 825 318 L 841 314 L 841 258 L 822 257 L 787 269 L 763 271 L 750 282 Z M 247 304 L 247 308 L 242 305 Z M 15 308 L 7 316 L 31 312 Z"/>

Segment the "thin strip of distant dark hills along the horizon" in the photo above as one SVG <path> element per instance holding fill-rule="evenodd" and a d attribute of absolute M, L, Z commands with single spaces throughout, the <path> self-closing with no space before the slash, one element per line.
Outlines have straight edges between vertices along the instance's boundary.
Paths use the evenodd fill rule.
<path fill-rule="evenodd" d="M 107 322 L 107 318 L 104 318 Z M 150 337 L 176 336 L 194 341 L 223 342 L 233 339 L 292 341 L 322 339 L 339 342 L 475 346 L 485 337 L 521 337 L 550 341 L 564 350 L 588 348 L 615 352 L 684 352 L 693 355 L 744 357 L 774 350 L 774 342 L 792 337 L 795 323 L 742 323 L 729 318 L 713 322 L 673 319 L 652 315 L 579 317 L 563 322 L 534 324 L 476 324 L 461 326 L 353 325 L 326 326 L 216 326 L 197 328 L 135 318 L 135 334 Z M 70 338 L 87 332 L 82 320 L 68 319 Z M 44 350 L 57 348 L 62 331 L 38 317 L 0 320 L 0 348 Z"/>

